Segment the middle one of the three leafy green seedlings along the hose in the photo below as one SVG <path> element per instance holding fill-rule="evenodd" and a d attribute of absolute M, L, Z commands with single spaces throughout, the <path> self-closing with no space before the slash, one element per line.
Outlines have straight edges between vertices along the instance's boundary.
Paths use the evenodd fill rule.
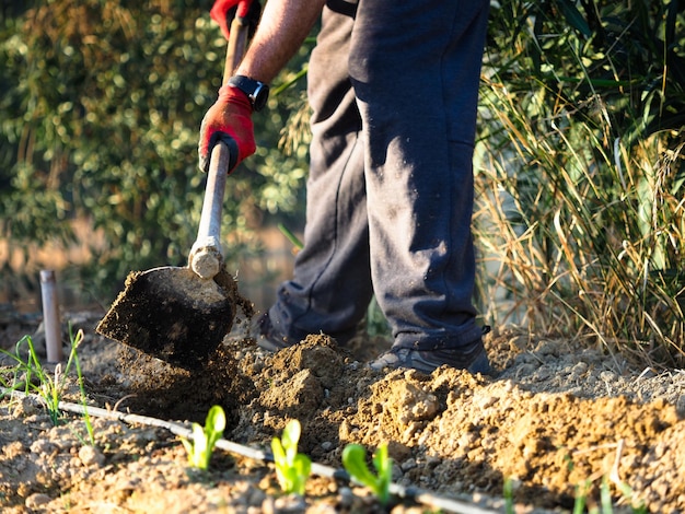
<path fill-rule="evenodd" d="M 298 453 L 301 433 L 300 422 L 290 420 L 283 429 L 281 439 L 271 440 L 276 477 L 283 492 L 304 495 L 304 487 L 312 471 L 312 460 Z"/>

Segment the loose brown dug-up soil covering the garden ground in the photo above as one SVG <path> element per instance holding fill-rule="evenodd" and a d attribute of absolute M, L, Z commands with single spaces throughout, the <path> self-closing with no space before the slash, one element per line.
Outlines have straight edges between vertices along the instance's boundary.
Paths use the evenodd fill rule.
<path fill-rule="evenodd" d="M 97 335 L 103 315 L 63 316 L 84 330 L 78 355 L 93 409 L 189 427 L 221 405 L 224 439 L 259 451 L 298 419 L 299 451 L 335 470 L 346 444 L 372 453 L 387 442 L 394 484 L 407 497 L 383 507 L 340 474 L 314 475 L 304 497 L 285 495 L 268 458 L 221 448 L 199 471 L 178 436 L 159 424 L 92 416 L 91 446 L 83 416 L 65 411 L 54 425 L 35 396 L 4 394 L 2 512 L 421 513 L 440 504 L 443 512 L 570 512 L 578 491 L 597 506 L 603 483 L 613 512 L 631 512 L 631 501 L 649 512 L 685 512 L 681 370 L 658 372 L 602 348 L 511 327 L 486 337 L 495 377 L 445 366 L 430 375 L 374 372 L 365 363 L 386 349 L 383 338 L 362 335 L 338 348 L 310 336 L 271 354 L 241 334 L 240 318 L 207 365 L 193 371 Z M 0 329 L 10 352 L 25 334 L 40 349 L 35 316 L 5 315 Z M 8 384 L 12 362 L 0 362 Z M 62 396 L 82 402 L 76 374 Z"/>

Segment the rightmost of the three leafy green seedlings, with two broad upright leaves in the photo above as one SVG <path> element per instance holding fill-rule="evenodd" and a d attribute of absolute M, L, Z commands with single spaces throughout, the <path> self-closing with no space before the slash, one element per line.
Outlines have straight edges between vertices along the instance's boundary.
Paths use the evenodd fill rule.
<path fill-rule="evenodd" d="M 378 475 L 367 466 L 367 448 L 360 444 L 345 446 L 342 466 L 357 482 L 371 489 L 382 505 L 387 505 L 393 478 L 393 459 L 387 454 L 387 443 L 381 444 L 373 454 L 373 467 Z"/>

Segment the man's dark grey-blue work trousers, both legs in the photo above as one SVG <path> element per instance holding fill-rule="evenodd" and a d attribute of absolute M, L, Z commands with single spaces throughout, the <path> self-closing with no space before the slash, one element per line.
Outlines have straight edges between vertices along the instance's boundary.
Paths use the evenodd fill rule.
<path fill-rule="evenodd" d="M 269 309 L 289 342 L 320 332 L 346 342 L 372 294 L 395 347 L 480 338 L 472 160 L 488 2 L 324 9 L 309 68 L 304 248 Z"/>

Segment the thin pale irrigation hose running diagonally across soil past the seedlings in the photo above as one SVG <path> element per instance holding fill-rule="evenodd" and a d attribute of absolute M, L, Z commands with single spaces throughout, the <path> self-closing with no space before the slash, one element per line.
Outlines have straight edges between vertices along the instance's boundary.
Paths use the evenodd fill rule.
<path fill-rule="evenodd" d="M 0 390 L 4 394 L 21 395 L 24 397 L 31 397 L 43 401 L 40 396 L 33 394 L 25 394 L 23 392 L 5 389 L 0 387 Z M 174 423 L 172 421 L 164 421 L 158 418 L 150 418 L 148 416 L 131 414 L 119 412 L 116 410 L 102 409 L 100 407 L 83 406 L 80 404 L 70 404 L 68 401 L 60 401 L 58 408 L 63 411 L 73 412 L 81 416 L 92 416 L 95 418 L 103 418 L 108 420 L 121 421 L 127 424 L 143 424 L 147 427 L 158 427 L 165 429 L 174 435 L 193 441 L 194 435 L 190 429 L 183 427 L 182 424 Z M 217 447 L 230 452 L 234 455 L 251 458 L 253 460 L 262 460 L 266 463 L 274 463 L 274 455 L 270 452 L 264 452 L 262 449 L 251 448 L 243 444 L 234 443 L 225 439 L 217 441 Z M 312 474 L 320 477 L 330 478 L 338 483 L 342 484 L 358 484 L 350 475 L 341 468 L 334 468 L 325 466 L 323 464 L 312 463 Z M 398 483 L 390 484 L 390 492 L 395 497 L 407 499 L 426 506 L 433 509 L 440 509 L 446 512 L 454 512 L 458 514 L 495 514 L 497 511 L 481 509 L 469 503 L 461 502 L 458 500 L 451 500 L 444 497 L 438 497 L 431 492 L 425 491 L 416 487 L 405 487 Z"/>

